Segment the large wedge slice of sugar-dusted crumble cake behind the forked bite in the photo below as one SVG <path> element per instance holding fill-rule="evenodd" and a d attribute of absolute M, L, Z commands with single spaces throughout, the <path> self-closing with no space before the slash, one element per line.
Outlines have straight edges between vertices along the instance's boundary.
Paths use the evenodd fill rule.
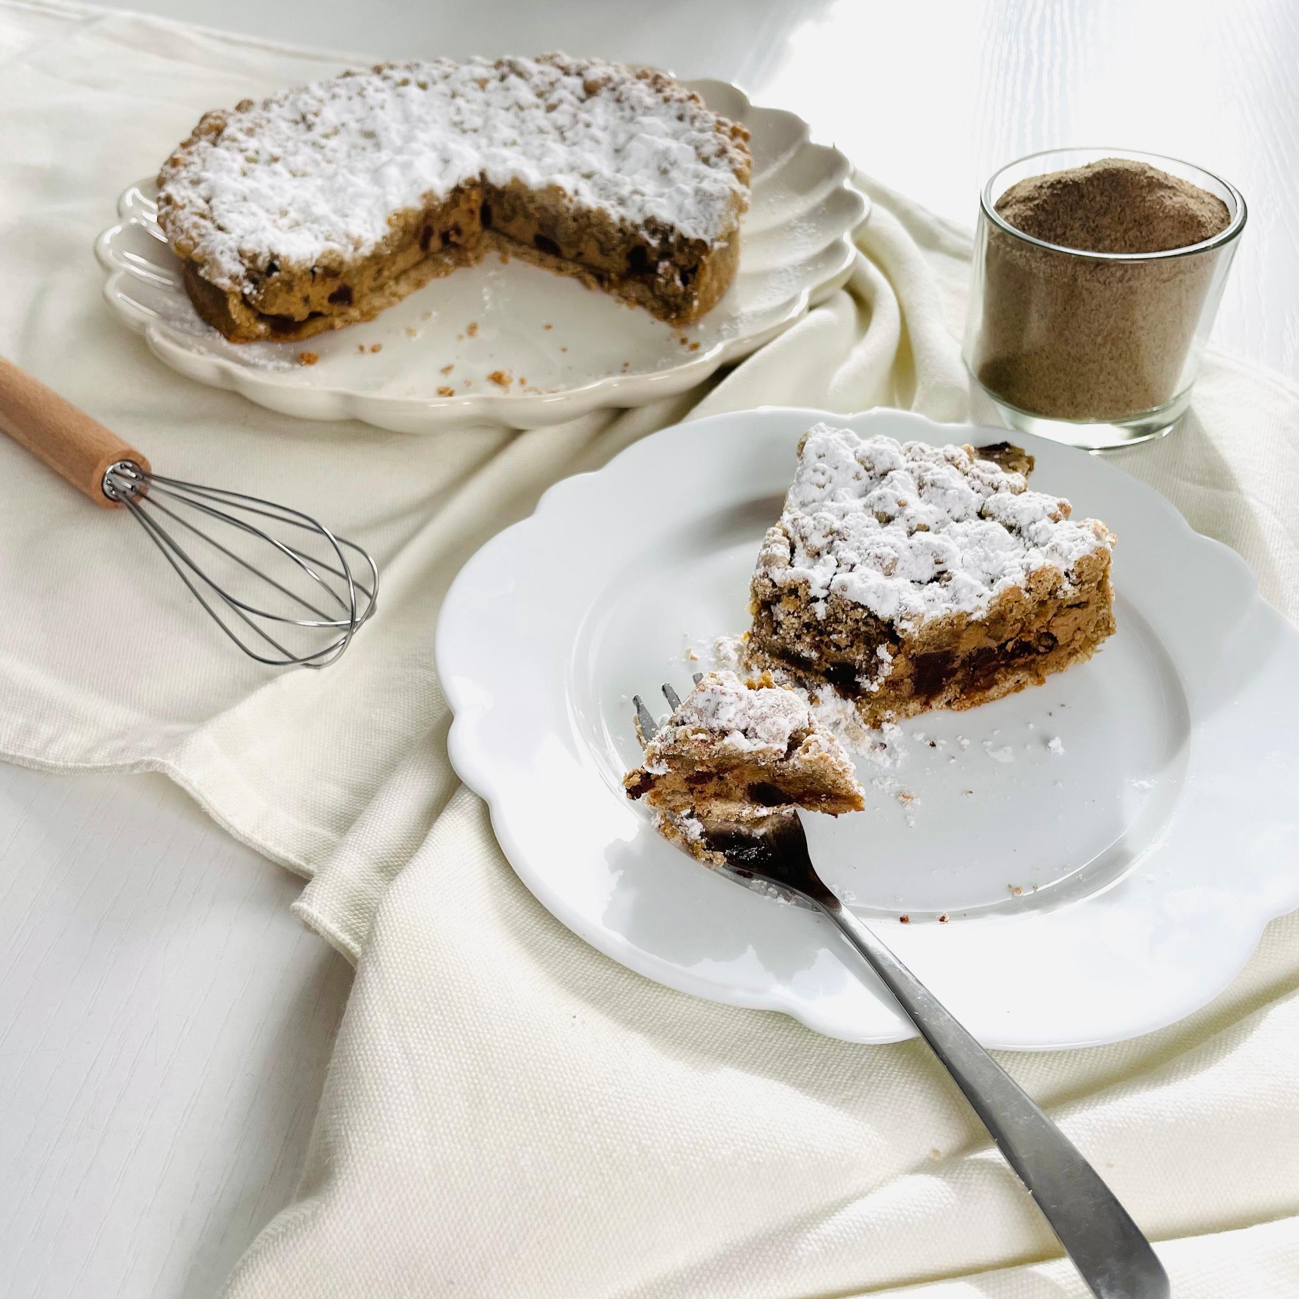
<path fill-rule="evenodd" d="M 1113 540 L 972 447 L 820 423 L 759 555 L 750 660 L 831 686 L 870 726 L 973 708 L 1115 630 Z"/>

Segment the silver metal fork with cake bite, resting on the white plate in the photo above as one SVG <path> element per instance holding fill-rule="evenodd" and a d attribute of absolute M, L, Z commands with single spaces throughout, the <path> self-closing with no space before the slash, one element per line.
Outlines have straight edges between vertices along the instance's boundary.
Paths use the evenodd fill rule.
<path fill-rule="evenodd" d="M 662 694 L 675 711 L 681 703 L 677 692 L 664 686 Z M 659 724 L 639 695 L 633 701 L 640 743 L 648 744 Z M 711 847 L 726 857 L 726 865 L 717 869 L 729 879 L 764 894 L 774 889 L 786 900 L 834 921 L 961 1089 L 1096 1299 L 1169 1299 L 1168 1274 L 1155 1251 L 1096 1170 L 934 994 L 826 887 L 812 865 L 796 811 L 772 813 L 743 842 L 727 834 Z"/>

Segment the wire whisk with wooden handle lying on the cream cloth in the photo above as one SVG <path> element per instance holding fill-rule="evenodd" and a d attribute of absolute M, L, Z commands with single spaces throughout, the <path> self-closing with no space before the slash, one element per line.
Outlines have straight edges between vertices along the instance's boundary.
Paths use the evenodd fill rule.
<path fill-rule="evenodd" d="M 117 434 L 3 357 L 0 429 L 96 505 L 126 509 L 257 662 L 323 668 L 374 612 L 379 570 L 360 546 L 287 505 L 155 474 Z"/>

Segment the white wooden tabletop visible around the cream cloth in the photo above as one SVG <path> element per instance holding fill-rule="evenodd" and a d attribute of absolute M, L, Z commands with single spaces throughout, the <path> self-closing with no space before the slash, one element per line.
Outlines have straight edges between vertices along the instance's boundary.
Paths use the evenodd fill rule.
<path fill-rule="evenodd" d="M 1251 209 L 1216 340 L 1299 378 L 1293 0 L 132 8 L 382 57 L 564 48 L 738 81 L 965 222 L 1034 149 L 1185 157 Z M 0 766 L 0 1296 L 212 1295 L 292 1194 L 351 972 L 288 914 L 300 882 L 162 777 Z"/>

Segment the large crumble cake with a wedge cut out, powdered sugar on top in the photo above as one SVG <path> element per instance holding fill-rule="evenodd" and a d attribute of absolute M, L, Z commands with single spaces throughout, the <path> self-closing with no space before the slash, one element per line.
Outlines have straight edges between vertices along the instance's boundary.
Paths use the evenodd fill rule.
<path fill-rule="evenodd" d="M 734 278 L 747 140 L 652 69 L 381 64 L 207 113 L 162 165 L 158 225 L 233 342 L 370 320 L 491 249 L 682 325 Z"/>

